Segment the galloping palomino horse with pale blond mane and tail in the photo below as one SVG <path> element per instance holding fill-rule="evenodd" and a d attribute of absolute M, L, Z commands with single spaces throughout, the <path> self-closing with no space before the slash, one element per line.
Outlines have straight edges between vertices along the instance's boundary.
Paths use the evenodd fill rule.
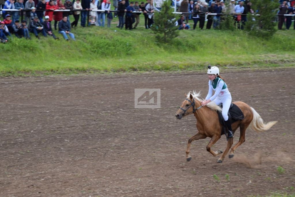
<path fill-rule="evenodd" d="M 219 140 L 221 137 L 221 130 L 222 126 L 219 122 L 217 110 L 221 110 L 219 106 L 217 106 L 214 102 L 209 102 L 206 106 L 201 106 L 201 99 L 199 98 L 200 92 L 196 93 L 195 91 L 193 94 L 189 92 L 186 96 L 186 99 L 182 102 L 180 109 L 176 112 L 175 116 L 177 119 L 181 119 L 182 117 L 190 114 L 194 114 L 197 120 L 196 126 L 198 132 L 196 135 L 192 136 L 189 139 L 186 148 L 186 160 L 190 161 L 191 156 L 189 155 L 191 142 L 198 139 L 204 139 L 210 137 L 211 140 L 207 145 L 207 151 L 210 152 L 214 157 L 221 154 L 222 151 L 212 151 L 211 146 Z M 237 101 L 233 102 L 236 104 L 243 112 L 245 118 L 243 120 L 238 120 L 232 123 L 232 131 L 235 132 L 237 128 L 240 127 L 240 139 L 239 142 L 232 147 L 229 158 L 234 157 L 235 149 L 240 146 L 243 142 L 245 142 L 245 132 L 247 127 L 250 125 L 251 128 L 256 132 L 266 131 L 270 129 L 277 121 L 272 121 L 268 123 L 263 123 L 262 118 L 260 115 L 249 105 L 244 102 Z M 227 152 L 230 150 L 232 146 L 233 138 L 230 138 L 227 141 L 227 148 L 225 149 L 222 156 L 217 160 L 218 163 L 222 163 L 224 157 L 226 156 Z"/>

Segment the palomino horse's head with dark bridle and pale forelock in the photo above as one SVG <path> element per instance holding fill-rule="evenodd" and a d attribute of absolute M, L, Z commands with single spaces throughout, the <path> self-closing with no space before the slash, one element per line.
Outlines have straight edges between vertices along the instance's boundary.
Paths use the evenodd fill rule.
<path fill-rule="evenodd" d="M 176 112 L 175 116 L 177 119 L 181 119 L 183 116 L 193 114 L 195 109 L 195 100 L 193 95 L 189 93 L 189 97 L 184 93 L 186 99 L 181 103 L 179 110 Z"/>

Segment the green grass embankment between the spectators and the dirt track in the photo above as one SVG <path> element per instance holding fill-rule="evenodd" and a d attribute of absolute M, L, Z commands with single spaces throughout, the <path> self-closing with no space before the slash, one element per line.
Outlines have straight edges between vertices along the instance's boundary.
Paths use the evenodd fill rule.
<path fill-rule="evenodd" d="M 242 67 L 294 66 L 294 30 L 278 31 L 271 40 L 243 31 L 183 30 L 173 43 L 156 43 L 151 30 L 77 27 L 77 41 L 14 38 L 0 45 L 1 76 L 118 71 L 176 71 L 204 65 Z M 115 31 L 117 30 L 117 31 Z"/>

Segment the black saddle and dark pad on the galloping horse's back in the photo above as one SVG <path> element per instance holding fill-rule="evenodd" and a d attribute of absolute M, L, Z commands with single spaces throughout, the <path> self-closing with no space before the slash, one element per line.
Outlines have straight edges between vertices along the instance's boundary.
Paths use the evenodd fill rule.
<path fill-rule="evenodd" d="M 219 107 L 222 108 L 222 104 L 219 105 Z M 222 125 L 221 135 L 223 135 L 225 132 L 227 132 L 227 126 L 225 125 L 224 119 L 222 117 L 222 112 L 217 111 L 217 114 L 218 114 L 219 122 Z M 233 103 L 230 105 L 230 109 L 228 110 L 227 115 L 232 123 L 239 121 L 239 120 L 243 120 L 245 118 L 242 110 L 237 105 L 235 105 Z"/>

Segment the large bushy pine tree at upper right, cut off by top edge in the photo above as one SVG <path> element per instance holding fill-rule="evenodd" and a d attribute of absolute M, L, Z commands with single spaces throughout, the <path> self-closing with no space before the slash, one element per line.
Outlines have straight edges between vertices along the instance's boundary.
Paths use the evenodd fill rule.
<path fill-rule="evenodd" d="M 252 9 L 258 10 L 255 15 L 248 13 L 245 29 L 250 35 L 269 39 L 276 32 L 276 10 L 278 4 L 273 0 L 253 0 Z M 256 16 L 260 14 L 260 16 Z"/>

